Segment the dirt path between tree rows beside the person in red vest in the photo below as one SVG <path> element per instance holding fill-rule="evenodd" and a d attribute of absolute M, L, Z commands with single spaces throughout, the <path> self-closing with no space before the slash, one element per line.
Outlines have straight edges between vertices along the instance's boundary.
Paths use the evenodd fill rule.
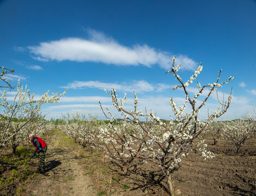
<path fill-rule="evenodd" d="M 79 164 L 77 144 L 59 130 L 48 133 L 44 138 L 46 152 L 46 174 L 38 174 L 28 183 L 26 195 L 96 195 L 94 186 Z M 35 165 L 38 159 L 33 160 Z"/>

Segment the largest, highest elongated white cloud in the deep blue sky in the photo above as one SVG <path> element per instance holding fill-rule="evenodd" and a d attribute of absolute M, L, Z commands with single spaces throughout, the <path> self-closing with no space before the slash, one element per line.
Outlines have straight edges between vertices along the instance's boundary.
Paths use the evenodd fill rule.
<path fill-rule="evenodd" d="M 66 38 L 50 42 L 41 42 L 39 46 L 29 46 L 37 60 L 71 60 L 76 62 L 100 62 L 114 65 L 158 64 L 169 69 L 172 61 L 170 52 L 157 50 L 148 45 L 135 44 L 127 47 L 96 30 L 88 30 L 89 39 Z M 197 63 L 186 55 L 176 56 L 181 69 L 193 70 Z"/>

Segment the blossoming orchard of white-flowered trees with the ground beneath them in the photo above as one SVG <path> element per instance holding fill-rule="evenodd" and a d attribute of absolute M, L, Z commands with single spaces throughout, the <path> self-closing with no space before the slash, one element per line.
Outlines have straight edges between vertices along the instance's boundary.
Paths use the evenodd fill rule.
<path fill-rule="evenodd" d="M 220 70 L 214 83 L 203 85 L 197 81 L 202 64 L 187 82 L 177 74 L 179 69 L 174 57 L 166 74 L 174 76 L 179 84 L 173 90 L 181 89 L 185 99 L 176 105 L 170 97 L 170 120 L 147 108 L 139 110 L 135 92 L 133 109 L 127 110 L 126 94 L 119 99 L 114 88 L 104 90 L 118 115 L 99 101 L 106 120 L 78 111 L 45 120 L 42 105 L 58 103 L 66 91 L 52 96 L 46 92 L 34 100 L 27 86 L 18 83 L 13 101 L 4 91 L 1 194 L 255 195 L 255 109 L 240 119 L 218 121 L 230 106 L 233 90 L 221 100 L 217 89 L 233 76 L 221 82 Z M 189 93 L 196 82 L 197 93 Z M 218 106 L 202 119 L 199 111 L 212 96 Z M 36 172 L 31 157 L 30 134 L 48 144 L 43 174 Z"/>

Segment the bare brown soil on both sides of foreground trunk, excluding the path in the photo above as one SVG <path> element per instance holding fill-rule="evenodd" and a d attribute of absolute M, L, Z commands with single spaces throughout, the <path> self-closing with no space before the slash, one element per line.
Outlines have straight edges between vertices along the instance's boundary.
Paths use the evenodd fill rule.
<path fill-rule="evenodd" d="M 211 140 L 208 142 L 213 143 Z M 176 195 L 256 195 L 255 139 L 247 141 L 240 155 L 236 155 L 235 146 L 226 140 L 209 145 L 208 150 L 217 156 L 204 160 L 197 154 L 190 154 L 181 161 L 181 167 L 173 173 Z M 169 195 L 166 179 L 159 180 L 162 172 L 153 164 L 142 166 L 129 175 L 114 171 L 102 177 L 110 180 L 111 174 L 112 181 L 119 177 L 118 182 L 112 182 L 113 187 L 118 187 L 113 195 Z M 94 184 L 102 189 L 102 181 L 95 179 L 100 178 L 95 177 Z"/>

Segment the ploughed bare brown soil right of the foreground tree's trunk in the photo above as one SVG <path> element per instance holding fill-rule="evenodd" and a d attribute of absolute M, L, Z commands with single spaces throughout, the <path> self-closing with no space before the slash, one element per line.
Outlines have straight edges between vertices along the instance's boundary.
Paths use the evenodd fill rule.
<path fill-rule="evenodd" d="M 184 195 L 256 195 L 255 140 L 243 146 L 239 156 L 226 141 L 208 149 L 219 156 L 208 160 L 188 156 L 174 173 L 175 188 Z"/>

